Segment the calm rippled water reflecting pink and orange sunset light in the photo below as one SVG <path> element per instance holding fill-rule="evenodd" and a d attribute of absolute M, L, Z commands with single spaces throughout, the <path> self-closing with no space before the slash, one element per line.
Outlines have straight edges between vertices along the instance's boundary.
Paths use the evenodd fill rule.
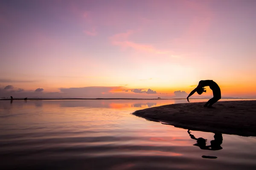
<path fill-rule="evenodd" d="M 189 136 L 185 129 L 131 115 L 185 102 L 0 101 L 0 169 L 256 169 L 256 137 L 214 138 L 199 131 Z M 211 141 L 215 150 L 206 149 Z"/>

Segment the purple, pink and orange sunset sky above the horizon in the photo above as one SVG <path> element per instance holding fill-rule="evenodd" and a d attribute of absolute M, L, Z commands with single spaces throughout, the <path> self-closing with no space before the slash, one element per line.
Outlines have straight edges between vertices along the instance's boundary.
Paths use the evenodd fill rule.
<path fill-rule="evenodd" d="M 183 98 L 208 79 L 256 98 L 255 16 L 256 0 L 1 0 L 0 98 Z"/>

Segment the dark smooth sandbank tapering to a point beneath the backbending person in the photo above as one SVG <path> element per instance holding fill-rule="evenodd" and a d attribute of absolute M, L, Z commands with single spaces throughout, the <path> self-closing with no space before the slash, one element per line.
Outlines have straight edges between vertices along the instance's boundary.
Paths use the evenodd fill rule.
<path fill-rule="evenodd" d="M 189 130 L 256 136 L 256 101 L 218 101 L 215 109 L 204 108 L 204 104 L 170 104 L 133 114 Z"/>

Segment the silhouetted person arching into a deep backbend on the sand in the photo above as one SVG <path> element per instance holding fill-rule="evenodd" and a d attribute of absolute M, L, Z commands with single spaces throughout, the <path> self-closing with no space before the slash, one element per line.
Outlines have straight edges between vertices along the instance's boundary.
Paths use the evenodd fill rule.
<path fill-rule="evenodd" d="M 206 92 L 205 86 L 209 86 L 210 89 L 212 89 L 213 92 L 213 98 L 211 98 L 207 103 L 204 105 L 204 107 L 208 108 L 214 108 L 212 107 L 212 104 L 215 104 L 218 100 L 221 99 L 221 89 L 218 86 L 217 83 L 215 83 L 212 80 L 201 80 L 199 81 L 198 86 L 190 92 L 190 94 L 187 97 L 187 100 L 189 102 L 189 97 L 192 96 L 195 92 L 198 93 L 198 95 L 201 95 L 203 92 Z"/>

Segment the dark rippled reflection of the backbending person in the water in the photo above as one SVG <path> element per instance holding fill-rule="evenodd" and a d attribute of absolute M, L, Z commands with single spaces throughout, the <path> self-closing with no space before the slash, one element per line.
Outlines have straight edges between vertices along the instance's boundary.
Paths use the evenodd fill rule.
<path fill-rule="evenodd" d="M 215 133 L 214 134 L 214 140 L 211 141 L 210 145 L 206 145 L 207 139 L 204 138 L 195 138 L 194 135 L 191 134 L 191 132 L 188 130 L 189 136 L 192 139 L 196 140 L 196 144 L 193 144 L 194 146 L 200 147 L 202 150 L 221 150 L 221 144 L 223 141 L 222 134 L 221 133 Z"/>

